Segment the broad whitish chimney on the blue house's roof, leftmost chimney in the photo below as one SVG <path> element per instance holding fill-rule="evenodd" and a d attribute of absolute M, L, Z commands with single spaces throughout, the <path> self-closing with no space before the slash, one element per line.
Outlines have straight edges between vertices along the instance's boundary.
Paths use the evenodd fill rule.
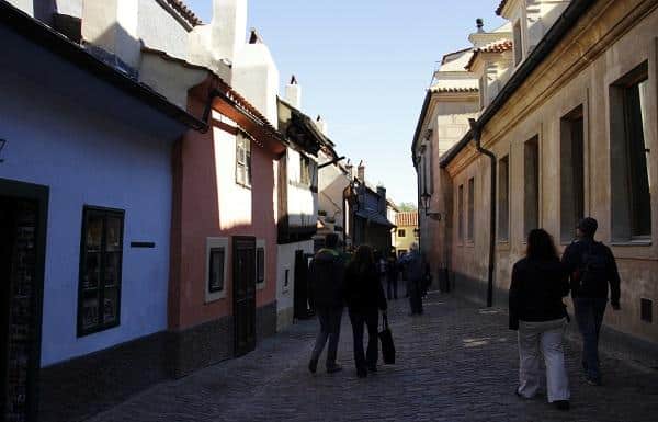
<path fill-rule="evenodd" d="M 82 7 L 82 42 L 102 60 L 133 76 L 141 58 L 138 11 L 135 0 L 84 0 Z"/>

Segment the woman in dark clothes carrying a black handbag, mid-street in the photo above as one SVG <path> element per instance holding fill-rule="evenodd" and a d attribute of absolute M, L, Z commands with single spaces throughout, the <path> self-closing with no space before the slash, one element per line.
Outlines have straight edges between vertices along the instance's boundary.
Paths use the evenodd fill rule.
<path fill-rule="evenodd" d="M 356 376 L 366 377 L 377 370 L 379 312 L 386 312 L 387 304 L 384 287 L 373 250 L 362 244 L 345 271 L 345 299 L 354 337 L 354 363 Z M 363 352 L 364 326 L 367 328 L 367 352 Z"/>

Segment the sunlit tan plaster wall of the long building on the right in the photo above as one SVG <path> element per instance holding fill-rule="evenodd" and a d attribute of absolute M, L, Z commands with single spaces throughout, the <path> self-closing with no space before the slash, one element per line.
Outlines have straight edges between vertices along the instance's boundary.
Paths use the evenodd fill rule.
<path fill-rule="evenodd" d="M 594 18 L 595 16 L 595 18 Z M 609 311 L 605 323 L 645 340 L 658 342 L 658 326 L 639 318 L 640 298 L 658 304 L 658 157 L 650 156 L 651 241 L 644 244 L 613 242 L 611 236 L 610 85 L 636 66 L 648 61 L 649 99 L 646 140 L 658 148 L 657 76 L 658 11 L 649 1 L 599 1 L 577 27 L 578 43 L 564 39 L 556 52 L 525 81 L 514 98 L 497 113 L 483 133 L 485 146 L 498 158 L 510 158 L 510 240 L 497 246 L 496 287 L 509 288 L 513 262 L 524 254 L 523 227 L 524 142 L 538 136 L 540 145 L 540 226 L 559 244 L 560 233 L 560 117 L 578 105 L 585 114 L 585 214 L 599 220 L 597 238 L 612 244 L 622 277 L 622 310 Z M 589 50 L 583 58 L 583 50 Z M 478 157 L 472 147 L 451 163 L 456 195 L 460 184 L 476 178 L 476 239 L 473 244 L 452 242 L 452 270 L 479 280 L 478 292 L 486 293 L 488 248 L 488 159 Z M 479 186 L 479 187 L 478 187 Z M 466 204 L 466 202 L 465 202 Z M 453 235 L 456 233 L 456 197 L 453 203 Z M 565 244 L 559 244 L 560 250 Z M 478 262 L 479 261 L 479 262 Z M 457 281 L 458 282 L 458 281 Z M 484 297 L 484 296 L 483 296 Z M 498 305 L 504 305 L 499 303 Z"/>

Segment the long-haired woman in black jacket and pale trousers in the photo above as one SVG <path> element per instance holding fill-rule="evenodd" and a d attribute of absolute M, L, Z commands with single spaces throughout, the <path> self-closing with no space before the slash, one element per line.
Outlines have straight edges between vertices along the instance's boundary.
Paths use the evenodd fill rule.
<path fill-rule="evenodd" d="M 517 395 L 530 399 L 537 394 L 543 354 L 548 402 L 560 410 L 569 410 L 570 397 L 564 352 L 567 312 L 563 303 L 568 294 L 567 273 L 551 235 L 543 229 L 532 230 L 525 258 L 512 269 L 509 292 L 510 329 L 519 331 Z"/>

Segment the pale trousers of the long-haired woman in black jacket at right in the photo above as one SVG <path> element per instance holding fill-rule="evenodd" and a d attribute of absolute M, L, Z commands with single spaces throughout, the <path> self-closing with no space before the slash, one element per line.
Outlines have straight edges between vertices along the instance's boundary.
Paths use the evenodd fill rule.
<path fill-rule="evenodd" d="M 565 367 L 563 337 L 566 320 L 519 321 L 519 389 L 525 398 L 534 397 L 540 388 L 540 354 L 546 364 L 548 402 L 569 400 L 569 379 Z M 540 353 L 540 347 L 542 352 Z"/>

